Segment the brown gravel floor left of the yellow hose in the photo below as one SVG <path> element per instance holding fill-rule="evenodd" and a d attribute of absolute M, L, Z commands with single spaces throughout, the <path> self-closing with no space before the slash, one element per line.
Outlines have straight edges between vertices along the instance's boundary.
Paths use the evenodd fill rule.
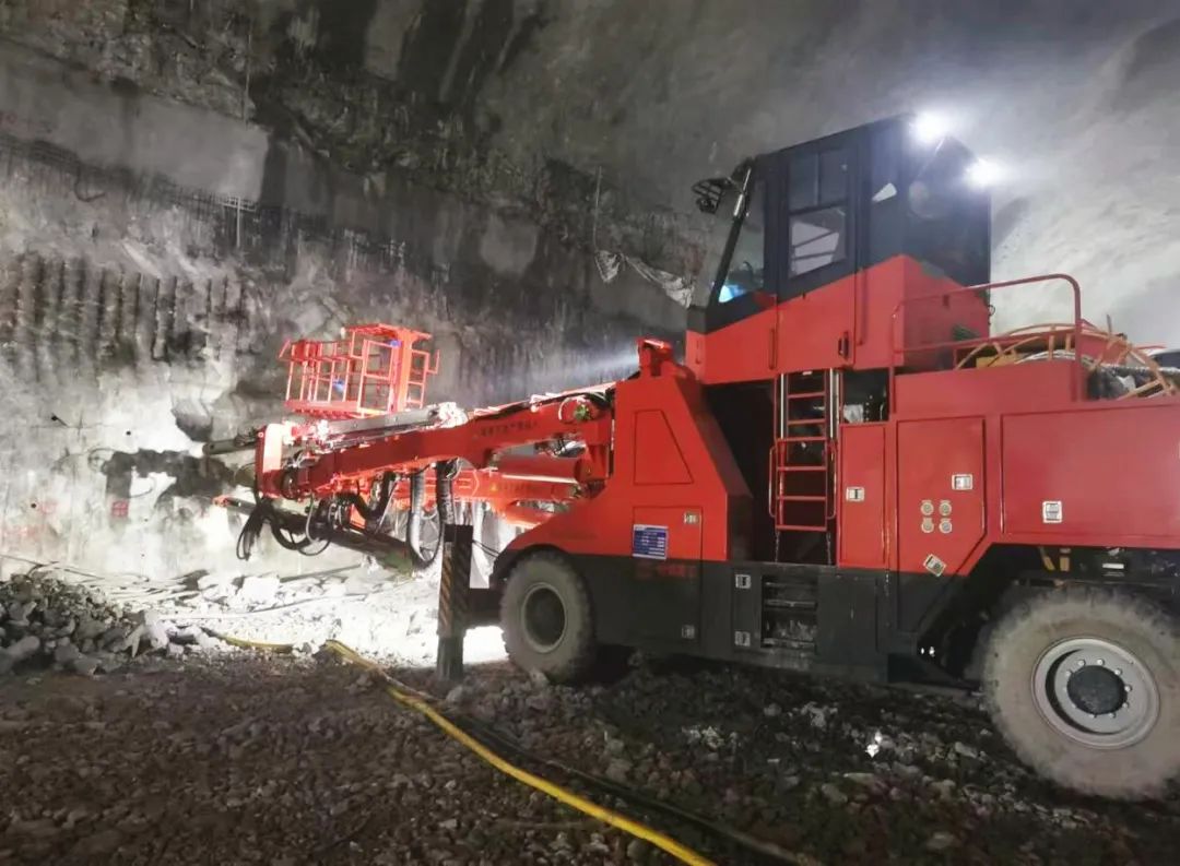
<path fill-rule="evenodd" d="M 0 683 L 0 862 L 610 864 L 628 840 L 356 669 L 242 656 Z"/>

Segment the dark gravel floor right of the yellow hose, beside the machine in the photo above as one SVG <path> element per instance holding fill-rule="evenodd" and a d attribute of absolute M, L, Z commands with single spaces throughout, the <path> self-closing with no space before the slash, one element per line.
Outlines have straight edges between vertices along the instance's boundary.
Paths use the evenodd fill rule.
<path fill-rule="evenodd" d="M 452 703 L 537 754 L 825 862 L 1174 862 L 1180 840 L 1180 796 L 1056 789 L 970 696 L 676 662 L 579 690 L 484 668 Z"/>

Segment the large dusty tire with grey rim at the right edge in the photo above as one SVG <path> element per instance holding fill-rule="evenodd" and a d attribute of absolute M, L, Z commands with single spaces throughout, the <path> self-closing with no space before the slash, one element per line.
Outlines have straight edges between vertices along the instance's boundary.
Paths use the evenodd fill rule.
<path fill-rule="evenodd" d="M 1180 625 L 1153 602 L 1067 589 L 1021 603 L 984 657 L 996 727 L 1041 775 L 1140 799 L 1180 775 Z"/>

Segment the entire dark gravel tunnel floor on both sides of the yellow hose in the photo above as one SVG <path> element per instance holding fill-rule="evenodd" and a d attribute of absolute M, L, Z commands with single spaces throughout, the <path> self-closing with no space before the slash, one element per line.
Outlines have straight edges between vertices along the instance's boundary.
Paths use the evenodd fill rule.
<path fill-rule="evenodd" d="M 1180 839 L 1180 800 L 1055 790 L 963 698 L 658 663 L 582 689 L 506 664 L 472 668 L 459 690 L 398 674 L 536 754 L 804 862 L 1173 862 Z M 499 775 L 355 668 L 315 660 L 9 677 L 0 789 L 0 862 L 670 862 Z M 756 862 L 654 822 L 717 862 Z"/>

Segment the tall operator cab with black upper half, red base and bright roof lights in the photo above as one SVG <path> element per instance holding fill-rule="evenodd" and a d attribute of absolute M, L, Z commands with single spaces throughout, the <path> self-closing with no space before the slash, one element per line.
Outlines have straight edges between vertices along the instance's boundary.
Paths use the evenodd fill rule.
<path fill-rule="evenodd" d="M 951 138 L 919 139 L 914 118 L 902 116 L 760 156 L 730 177 L 696 184 L 701 210 L 729 219 L 719 221 L 716 269 L 689 310 L 689 366 L 707 383 L 890 366 L 886 320 L 903 298 L 945 289 L 946 281 L 990 278 L 990 197 L 972 173 L 978 165 Z M 898 267 L 903 260 L 925 277 Z M 932 280 L 943 284 L 936 289 Z M 820 289 L 840 297 L 830 291 L 821 300 Z M 789 303 L 813 295 L 809 303 Z M 985 308 L 958 324 L 982 335 Z M 709 339 L 750 319 L 761 326 Z M 800 336 L 820 350 L 793 352 Z M 766 357 L 733 357 L 739 345 L 747 353 L 774 348 Z"/>

